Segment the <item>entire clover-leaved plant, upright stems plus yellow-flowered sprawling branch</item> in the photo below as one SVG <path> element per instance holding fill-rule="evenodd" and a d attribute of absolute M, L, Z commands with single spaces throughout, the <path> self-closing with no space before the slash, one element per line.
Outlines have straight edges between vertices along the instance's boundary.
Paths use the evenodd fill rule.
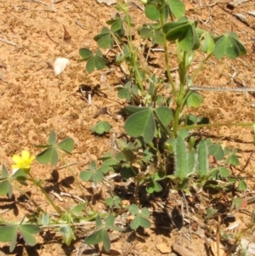
<path fill-rule="evenodd" d="M 125 212 L 133 215 L 130 223 L 132 230 L 150 227 L 150 212 L 148 208 L 140 209 L 139 191 L 146 191 L 149 195 L 160 193 L 163 189 L 184 191 L 190 194 L 192 189 L 204 188 L 215 190 L 246 190 L 246 183 L 242 177 L 233 177 L 229 167 L 239 164 L 238 150 L 223 149 L 220 144 L 211 139 L 201 138 L 190 133 L 195 128 L 210 128 L 222 126 L 221 123 L 211 124 L 207 117 L 195 117 L 188 113 L 189 108 L 198 108 L 203 97 L 198 92 L 190 90 L 201 68 L 212 56 L 217 59 L 224 56 L 235 59 L 246 54 L 246 49 L 239 42 L 234 32 L 214 37 L 209 31 L 199 29 L 198 23 L 184 16 L 184 3 L 179 0 L 144 0 L 144 14 L 151 22 L 144 24 L 133 33 L 133 20 L 128 13 L 128 4 L 119 1 L 116 9 L 122 14 L 108 20 L 108 27 L 103 27 L 99 35 L 94 37 L 99 48 L 114 49 L 116 65 L 125 64 L 128 69 L 127 82 L 117 88 L 118 96 L 127 101 L 124 111 L 127 119 L 124 129 L 127 137 L 116 139 L 116 154 L 106 152 L 98 162 L 91 162 L 90 166 L 79 174 L 82 181 L 92 181 L 94 185 L 105 184 L 104 177 L 110 172 L 119 173 L 122 179 L 131 179 L 134 183 L 133 203 L 127 208 L 121 198 L 110 191 L 111 197 L 105 199 L 109 207 L 108 212 L 98 213 L 91 208 L 86 197 L 70 208 L 60 208 L 54 203 L 43 187 L 43 179 L 35 179 L 31 171 L 34 156 L 29 152 L 22 152 L 21 156 L 14 156 L 13 174 L 2 166 L 0 179 L 0 195 L 13 196 L 13 188 L 20 191 L 32 201 L 31 197 L 22 191 L 20 185 L 31 183 L 37 186 L 56 214 L 47 213 L 37 202 L 34 212 L 18 222 L 5 222 L 1 219 L 0 241 L 10 242 L 10 251 L 14 250 L 17 236 L 21 234 L 28 245 L 35 244 L 34 234 L 44 228 L 52 229 L 61 234 L 63 242 L 68 246 L 77 239 L 77 229 L 80 226 L 91 225 L 94 220 L 94 230 L 85 238 L 85 243 L 98 244 L 103 242 L 105 251 L 111 249 L 108 235 L 110 230 L 123 230 L 115 225 L 116 215 Z M 133 37 L 139 35 L 139 46 L 133 43 Z M 166 77 L 161 73 L 151 71 L 148 60 L 151 49 L 162 45 L 164 51 L 164 66 Z M 149 45 L 147 48 L 146 45 Z M 171 48 L 178 65 L 178 77 L 174 80 L 170 69 L 169 49 Z M 204 59 L 193 73 L 190 65 L 200 56 Z M 100 49 L 94 52 L 88 48 L 81 48 L 80 55 L 86 63 L 86 71 L 102 70 L 110 65 Z M 162 94 L 162 91 L 167 94 Z M 225 123 L 224 125 L 252 126 L 254 123 Z M 111 132 L 108 122 L 97 122 L 91 131 L 95 134 Z M 71 138 L 57 142 L 57 136 L 51 132 L 47 145 L 38 145 L 43 151 L 36 157 L 37 162 L 50 163 L 55 166 L 59 159 L 75 178 L 77 187 L 82 186 L 62 153 L 70 155 L 74 148 Z M 213 157 L 210 164 L 208 157 Z M 220 181 L 220 182 L 218 182 Z M 236 187 L 236 183 L 238 183 Z M 83 193 L 82 193 L 83 194 Z M 237 199 L 233 202 L 238 208 Z M 214 214 L 214 209 L 207 209 L 207 216 Z M 83 232 L 84 233 L 84 232 Z M 3 234 L 6 234 L 6 236 Z"/>

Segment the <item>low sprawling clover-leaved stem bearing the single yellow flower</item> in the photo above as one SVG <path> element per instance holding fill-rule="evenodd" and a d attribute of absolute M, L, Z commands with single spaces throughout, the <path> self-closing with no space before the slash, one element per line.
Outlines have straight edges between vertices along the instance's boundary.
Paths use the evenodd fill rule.
<path fill-rule="evenodd" d="M 77 229 L 83 227 L 84 225 L 91 225 L 89 221 L 96 220 L 96 229 L 99 228 L 99 219 L 105 219 L 105 228 L 101 227 L 101 233 L 97 234 L 103 236 L 105 250 L 110 247 L 110 240 L 107 235 L 106 230 L 115 229 L 122 230 L 114 225 L 114 216 L 108 213 L 96 213 L 89 206 L 88 201 L 79 198 L 80 202 L 71 205 L 69 208 L 61 208 L 57 205 L 54 200 L 49 196 L 48 191 L 44 188 L 43 179 L 35 179 L 33 176 L 33 171 L 31 170 L 32 162 L 37 159 L 37 162 L 42 164 L 50 163 L 55 166 L 59 162 L 59 158 L 62 162 L 65 162 L 65 158 L 62 156 L 61 151 L 68 155 L 71 155 L 71 151 L 74 148 L 74 141 L 71 138 L 66 138 L 57 142 L 57 135 L 54 131 L 49 134 L 47 145 L 37 145 L 37 148 L 42 148 L 44 151 L 39 153 L 37 157 L 30 156 L 29 151 L 22 151 L 21 156 L 14 155 L 12 165 L 13 173 L 9 175 L 8 169 L 3 165 L 2 174 L 0 179 L 0 195 L 8 195 L 11 199 L 14 194 L 14 190 L 20 192 L 21 195 L 26 196 L 26 198 L 31 201 L 35 208 L 29 214 L 26 214 L 21 221 L 5 221 L 0 219 L 0 242 L 10 242 L 9 250 L 14 251 L 16 246 L 16 240 L 18 237 L 22 236 L 24 241 L 29 246 L 34 246 L 36 244 L 35 234 L 40 233 L 43 229 L 54 230 L 58 232 L 63 239 L 63 242 L 67 246 L 71 245 L 71 242 L 77 239 L 76 233 Z M 111 162 L 112 164 L 113 162 Z M 108 162 L 110 164 L 110 162 Z M 82 187 L 76 178 L 76 174 L 71 170 L 67 162 L 65 162 L 67 169 L 71 171 L 71 175 L 77 181 L 78 187 Z M 105 168 L 107 168 L 105 163 Z M 108 167 L 109 168 L 109 167 Z M 101 168 L 104 169 L 104 168 Z M 102 174 L 103 175 L 103 174 Z M 95 181 L 95 179 L 93 179 Z M 99 180 L 101 181 L 101 180 Z M 41 208 L 37 202 L 35 202 L 31 196 L 22 190 L 20 185 L 27 186 L 29 183 L 36 186 L 39 191 L 45 196 L 46 200 L 54 208 L 55 214 L 48 213 L 45 209 Z M 116 199 L 116 202 L 117 199 Z M 106 232 L 106 235 L 105 235 Z M 105 242 L 108 237 L 107 242 Z M 95 240 L 96 243 L 99 242 L 99 238 Z M 88 244 L 94 242 L 94 236 L 88 236 Z"/>

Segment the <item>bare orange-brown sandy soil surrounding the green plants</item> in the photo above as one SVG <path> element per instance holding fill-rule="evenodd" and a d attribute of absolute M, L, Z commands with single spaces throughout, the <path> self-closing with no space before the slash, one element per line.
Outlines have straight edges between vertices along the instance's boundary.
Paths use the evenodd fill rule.
<path fill-rule="evenodd" d="M 247 49 L 246 56 L 238 60 L 210 60 L 196 83 L 212 87 L 235 88 L 240 84 L 255 87 L 255 42 L 252 41 L 252 38 L 255 38 L 255 17 L 246 14 L 247 11 L 254 11 L 254 1 L 241 3 L 232 10 L 226 8 L 226 3 L 213 4 L 209 0 L 184 2 L 188 16 L 199 20 L 201 27 L 214 33 L 235 31 Z M 122 132 L 123 129 L 124 121 L 114 118 L 114 113 L 124 105 L 124 102 L 117 98 L 115 89 L 124 76 L 122 71 L 115 67 L 108 73 L 96 71 L 88 75 L 84 63 L 77 61 L 80 59 L 79 48 L 96 47 L 93 37 L 99 33 L 105 21 L 111 19 L 113 7 L 99 4 L 96 0 L 64 0 L 54 5 L 54 12 L 50 11 L 49 6 L 48 0 L 0 0 L 0 40 L 8 40 L 0 41 L 0 161 L 10 168 L 11 157 L 21 150 L 26 149 L 37 154 L 34 145 L 45 144 L 48 134 L 54 130 L 59 139 L 69 136 L 75 140 L 76 147 L 68 162 L 76 163 L 75 170 L 78 174 L 88 167 L 89 162 L 97 160 L 99 156 L 111 150 L 111 135 L 97 137 L 91 134 L 90 128 L 94 123 L 108 120 L 116 131 Z M 142 25 L 142 11 L 133 5 L 132 1 L 130 6 L 135 24 Z M 245 14 L 246 20 L 239 20 L 236 14 Z M 70 40 L 64 38 L 64 26 L 71 35 Z M 55 76 L 53 70 L 57 57 L 71 60 L 71 65 L 59 76 Z M 161 65 L 160 59 L 163 55 L 156 53 L 154 57 L 158 57 L 156 64 Z M 102 74 L 105 75 L 109 87 L 100 82 Z M 102 94 L 95 94 L 92 105 L 88 105 L 79 92 L 82 84 L 92 87 L 100 84 L 107 98 Z M 212 122 L 252 122 L 255 119 L 254 108 L 251 105 L 254 99 L 251 94 L 205 92 L 203 95 L 205 100 L 199 114 L 209 117 Z M 98 116 L 97 113 L 103 107 L 108 107 L 112 115 Z M 190 111 L 196 113 L 194 110 Z M 251 128 L 224 126 L 206 129 L 204 133 L 213 136 L 224 145 L 229 145 L 230 148 L 240 149 L 241 167 L 234 170 L 235 175 L 252 177 L 255 174 Z M 243 169 L 248 159 L 250 162 Z M 65 168 L 59 171 L 57 180 L 53 179 L 53 168 L 49 166 L 42 167 L 35 163 L 33 169 L 37 179 L 46 179 L 45 185 L 51 188 L 51 191 L 79 194 L 71 174 Z M 247 183 L 250 192 L 254 190 L 253 180 L 248 179 Z M 89 186 L 87 185 L 88 188 Z M 50 209 L 36 189 L 27 190 L 42 208 Z M 93 191 L 88 190 L 87 193 L 93 195 Z M 58 202 L 57 198 L 54 200 Z M 58 203 L 71 203 L 71 199 L 68 198 L 64 198 L 64 201 Z M 12 202 L 6 201 L 3 196 L 0 198 L 1 209 L 11 205 Z M 104 203 L 99 201 L 96 207 L 104 208 Z M 248 209 L 251 210 L 252 205 Z M 1 214 L 1 218 L 22 219 L 24 214 L 26 202 L 20 201 L 18 211 L 10 207 L 8 212 Z M 235 218 L 239 219 L 241 226 L 244 227 L 246 219 L 250 217 L 246 213 L 235 213 Z M 190 242 L 184 236 L 185 232 L 189 232 L 188 228 L 170 232 L 166 227 L 166 222 L 169 222 L 166 216 L 158 221 L 158 225 L 152 225 L 151 229 L 144 230 L 144 233 L 137 234 L 133 239 L 130 239 L 130 234 L 122 234 L 119 239 L 112 242 L 110 254 L 175 255 L 171 246 L 177 241 L 197 256 L 207 254 L 206 236 L 198 236 L 195 233 Z M 250 242 L 254 242 L 252 231 L 246 236 Z M 13 254 L 99 255 L 93 254 L 92 251 L 87 252 L 82 238 L 71 247 L 66 247 L 59 236 L 48 234 L 48 239 L 45 237 L 38 237 L 35 247 L 19 244 Z M 162 253 L 164 248 L 160 248 L 159 245 L 166 249 L 165 253 Z M 2 244 L 0 254 L 9 255 L 8 245 Z"/>

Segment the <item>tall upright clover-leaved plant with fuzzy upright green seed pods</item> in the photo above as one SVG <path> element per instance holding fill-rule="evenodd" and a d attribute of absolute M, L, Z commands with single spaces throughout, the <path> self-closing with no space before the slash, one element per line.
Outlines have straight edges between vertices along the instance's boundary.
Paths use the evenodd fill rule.
<path fill-rule="evenodd" d="M 120 12 L 108 27 L 103 27 L 94 40 L 99 48 L 112 49 L 116 53 L 116 65 L 127 66 L 127 81 L 117 87 L 118 96 L 127 101 L 123 108 L 127 112 L 124 129 L 130 139 L 116 139 L 117 153 L 105 154 L 101 166 L 90 167 L 82 173 L 83 180 L 93 180 L 96 185 L 103 180 L 103 174 L 111 171 L 120 173 L 122 179 L 133 179 L 135 183 L 134 204 L 129 212 L 136 214 L 131 228 L 149 226 L 149 212 L 143 208 L 139 212 L 139 189 L 145 188 L 149 194 L 162 191 L 167 185 L 175 190 L 190 194 L 190 189 L 199 187 L 214 190 L 246 190 L 241 177 L 231 176 L 229 167 L 239 164 L 237 149 L 223 149 L 211 139 L 195 137 L 190 130 L 195 128 L 220 127 L 222 125 L 250 126 L 252 123 L 210 123 L 207 117 L 195 117 L 188 113 L 190 108 L 198 108 L 203 97 L 191 90 L 195 79 L 207 60 L 227 57 L 231 60 L 245 55 L 246 48 L 235 32 L 214 36 L 210 31 L 198 28 L 198 22 L 186 17 L 184 3 L 179 0 L 144 0 L 144 15 L 147 24 L 134 31 L 135 25 L 128 12 L 128 4 L 118 1 Z M 122 13 L 122 14 L 121 14 Z M 139 37 L 139 46 L 133 38 Z M 166 77 L 161 72 L 151 70 L 149 58 L 151 49 L 162 45 Z M 88 48 L 81 48 L 82 60 L 87 60 Z M 178 65 L 174 79 L 170 69 L 175 58 Z M 200 65 L 191 73 L 190 65 L 195 60 Z M 106 61 L 105 68 L 109 63 Z M 101 69 L 102 66 L 100 66 Z M 86 64 L 88 72 L 94 71 L 94 64 Z M 162 94 L 162 91 L 167 94 Z M 209 162 L 209 156 L 214 163 Z M 101 168 L 107 168 L 105 172 Z M 170 180 L 169 180 L 170 179 Z M 218 182 L 220 181 L 220 182 Z M 238 183 L 236 187 L 235 184 Z M 115 198 L 115 199 L 114 199 Z M 119 208 L 115 195 L 107 200 L 111 208 Z"/>

